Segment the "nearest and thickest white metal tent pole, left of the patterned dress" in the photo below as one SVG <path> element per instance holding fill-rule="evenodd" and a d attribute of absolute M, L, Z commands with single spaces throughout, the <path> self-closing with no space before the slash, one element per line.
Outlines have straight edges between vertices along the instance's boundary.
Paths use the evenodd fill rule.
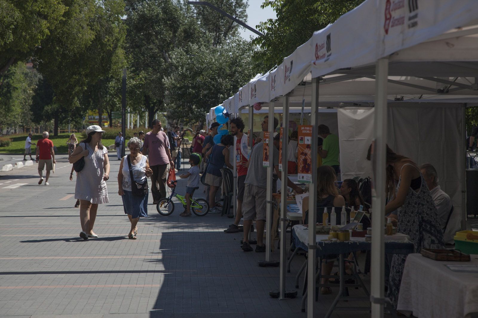
<path fill-rule="evenodd" d="M 375 68 L 375 143 L 373 150 L 373 189 L 372 189 L 372 250 L 371 250 L 371 283 L 370 302 L 372 318 L 383 318 L 385 305 L 385 245 L 383 241 L 383 217 L 385 215 L 385 168 L 387 144 L 387 80 L 388 58 L 377 61 Z"/>

